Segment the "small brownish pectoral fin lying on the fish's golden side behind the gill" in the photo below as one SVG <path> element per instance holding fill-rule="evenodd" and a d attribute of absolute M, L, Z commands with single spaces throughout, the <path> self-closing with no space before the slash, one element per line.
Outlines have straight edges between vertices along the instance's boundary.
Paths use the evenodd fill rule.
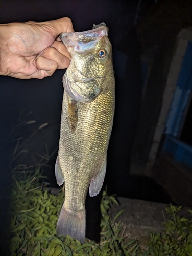
<path fill-rule="evenodd" d="M 77 115 L 77 101 L 67 95 L 68 100 L 68 126 L 71 133 L 74 133 L 77 126 L 78 115 Z"/>

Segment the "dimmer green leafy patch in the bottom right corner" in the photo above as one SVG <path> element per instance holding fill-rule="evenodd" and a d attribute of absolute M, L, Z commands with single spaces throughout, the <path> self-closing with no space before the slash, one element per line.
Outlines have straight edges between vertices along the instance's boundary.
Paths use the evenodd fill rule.
<path fill-rule="evenodd" d="M 164 234 L 151 234 L 146 256 L 192 256 L 192 218 L 182 218 L 182 206 L 166 207 Z M 192 210 L 188 210 L 192 214 Z"/>

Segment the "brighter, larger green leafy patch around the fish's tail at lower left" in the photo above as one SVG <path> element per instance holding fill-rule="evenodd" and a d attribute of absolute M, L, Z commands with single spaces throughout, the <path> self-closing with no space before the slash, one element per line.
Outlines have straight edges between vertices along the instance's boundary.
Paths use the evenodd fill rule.
<path fill-rule="evenodd" d="M 120 223 L 108 214 L 110 204 L 117 204 L 114 196 L 103 192 L 101 202 L 101 242 L 86 239 L 84 244 L 69 236 L 57 236 L 58 214 L 64 201 L 64 194 L 52 195 L 43 191 L 38 180 L 42 178 L 39 169 L 36 173 L 14 172 L 14 188 L 11 205 L 12 256 L 15 255 L 137 255 L 139 245 L 135 240 L 125 242 Z"/>

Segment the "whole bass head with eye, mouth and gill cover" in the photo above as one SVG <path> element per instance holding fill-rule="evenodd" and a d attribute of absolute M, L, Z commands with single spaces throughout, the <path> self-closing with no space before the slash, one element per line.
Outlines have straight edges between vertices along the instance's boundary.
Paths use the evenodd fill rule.
<path fill-rule="evenodd" d="M 70 97 L 84 103 L 92 102 L 105 90 L 106 76 L 112 67 L 108 28 L 95 27 L 60 35 L 71 54 L 70 65 L 63 76 L 64 89 Z"/>

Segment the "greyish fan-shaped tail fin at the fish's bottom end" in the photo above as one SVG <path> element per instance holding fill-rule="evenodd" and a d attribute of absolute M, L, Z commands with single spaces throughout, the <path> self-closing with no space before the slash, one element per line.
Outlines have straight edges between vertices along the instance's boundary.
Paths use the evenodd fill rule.
<path fill-rule="evenodd" d="M 63 205 L 57 222 L 57 233 L 69 234 L 71 237 L 84 243 L 85 208 L 76 213 L 66 210 Z"/>

